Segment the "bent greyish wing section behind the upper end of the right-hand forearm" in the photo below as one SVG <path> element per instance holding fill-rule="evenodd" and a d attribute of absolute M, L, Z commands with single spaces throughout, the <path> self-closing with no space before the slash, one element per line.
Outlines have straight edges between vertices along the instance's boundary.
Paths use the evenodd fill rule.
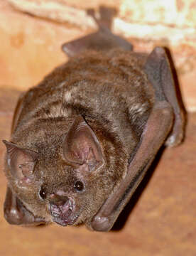
<path fill-rule="evenodd" d="M 185 127 L 185 114 L 180 107 L 178 97 L 175 90 L 175 82 L 170 68 L 168 56 L 165 49 L 156 47 L 148 56 L 144 70 L 148 75 L 148 80 L 155 86 L 160 85 L 157 93 L 163 95 L 170 105 L 173 107 L 175 114 L 173 129 L 166 141 L 167 146 L 176 146 L 183 139 Z"/>

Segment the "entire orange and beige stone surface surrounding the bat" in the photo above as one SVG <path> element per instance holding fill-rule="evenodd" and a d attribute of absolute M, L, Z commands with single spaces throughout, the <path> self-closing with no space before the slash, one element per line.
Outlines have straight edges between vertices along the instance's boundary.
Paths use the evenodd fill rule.
<path fill-rule="evenodd" d="M 14 4 L 13 0 L 9 2 Z M 54 1 L 31 2 L 40 4 L 41 11 L 42 4 L 51 6 Z M 85 26 L 68 22 L 69 19 L 72 21 L 75 13 L 84 18 L 85 9 L 98 9 L 105 1 L 55 2 L 71 10 L 66 23 L 56 23 L 49 16 L 29 16 L 13 9 L 8 1 L 0 1 L 0 141 L 9 139 L 20 91 L 35 85 L 67 60 L 60 50 L 62 43 L 96 29 L 94 23 L 90 25 L 91 19 Z M 175 149 L 165 149 L 157 157 L 117 221 L 116 230 L 109 233 L 90 232 L 82 226 L 21 228 L 7 224 L 2 210 L 6 191 L 5 147 L 0 143 L 0 255 L 196 255 L 195 1 L 111 0 L 107 4 L 118 10 L 114 31 L 129 38 L 136 50 L 149 51 L 158 44 L 170 46 L 185 105 L 192 111 L 187 114 L 185 142 Z M 133 29 L 132 34 L 128 33 L 129 28 Z"/>

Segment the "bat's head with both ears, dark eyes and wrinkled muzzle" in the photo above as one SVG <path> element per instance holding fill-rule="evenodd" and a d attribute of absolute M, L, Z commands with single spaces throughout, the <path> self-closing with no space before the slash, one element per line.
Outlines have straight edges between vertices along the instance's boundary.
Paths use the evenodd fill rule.
<path fill-rule="evenodd" d="M 123 171 L 111 170 L 114 157 L 105 155 L 103 143 L 81 116 L 61 132 L 53 136 L 50 131 L 47 138 L 42 134 L 40 141 L 35 135 L 33 150 L 4 141 L 6 176 L 23 206 L 46 223 L 87 223 Z"/>

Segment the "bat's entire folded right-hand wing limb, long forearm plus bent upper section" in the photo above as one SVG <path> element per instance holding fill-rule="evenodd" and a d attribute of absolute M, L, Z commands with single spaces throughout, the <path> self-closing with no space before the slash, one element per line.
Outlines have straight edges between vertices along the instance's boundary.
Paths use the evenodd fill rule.
<path fill-rule="evenodd" d="M 119 213 L 146 174 L 158 149 L 168 137 L 172 126 L 176 127 L 170 135 L 174 137 L 173 144 L 178 144 L 183 137 L 183 117 L 180 115 L 180 107 L 175 95 L 173 77 L 165 57 L 165 50 L 163 48 L 153 50 L 153 53 L 147 58 L 144 68 L 155 90 L 155 103 L 134 152 L 134 157 L 128 166 L 127 175 L 104 202 L 98 213 L 94 215 L 92 221 L 88 223 L 92 230 L 108 231 L 112 228 Z"/>

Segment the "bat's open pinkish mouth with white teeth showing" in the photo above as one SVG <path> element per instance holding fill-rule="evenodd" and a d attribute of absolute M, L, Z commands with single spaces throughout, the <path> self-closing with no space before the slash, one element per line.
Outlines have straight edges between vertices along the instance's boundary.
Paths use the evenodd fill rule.
<path fill-rule="evenodd" d="M 50 202 L 50 213 L 53 221 L 59 225 L 73 225 L 78 218 L 75 214 L 75 201 L 66 197 L 64 201 Z"/>

